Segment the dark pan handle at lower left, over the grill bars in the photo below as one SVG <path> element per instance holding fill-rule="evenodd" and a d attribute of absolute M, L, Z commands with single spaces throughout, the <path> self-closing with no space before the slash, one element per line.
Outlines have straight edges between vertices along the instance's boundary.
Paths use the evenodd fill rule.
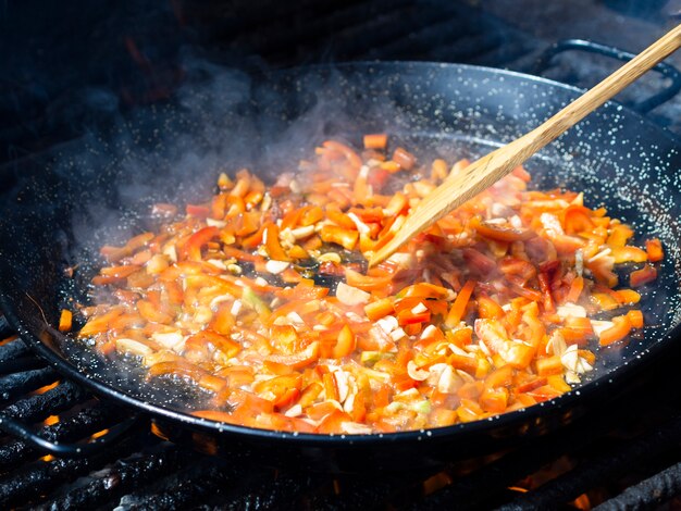
<path fill-rule="evenodd" d="M 145 415 L 136 414 L 109 428 L 109 432 L 89 443 L 61 444 L 38 435 L 30 426 L 0 413 L 0 429 L 21 438 L 33 448 L 60 458 L 85 458 L 111 447 L 125 434 L 145 422 Z"/>

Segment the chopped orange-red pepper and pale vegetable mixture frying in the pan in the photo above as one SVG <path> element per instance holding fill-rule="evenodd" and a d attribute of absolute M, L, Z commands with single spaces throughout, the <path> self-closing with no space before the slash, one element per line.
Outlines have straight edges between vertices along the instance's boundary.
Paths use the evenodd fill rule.
<path fill-rule="evenodd" d="M 77 336 L 205 390 L 212 408 L 196 415 L 370 434 L 556 398 L 599 347 L 641 332 L 635 289 L 656 278 L 659 240 L 629 245 L 631 227 L 580 192 L 529 190 L 522 167 L 368 270 L 468 162 L 422 164 L 383 134 L 363 142 L 325 141 L 272 186 L 221 174 L 184 214 L 156 204 L 157 232 L 101 249 L 110 265 L 92 284 L 110 299 L 78 311 Z"/>

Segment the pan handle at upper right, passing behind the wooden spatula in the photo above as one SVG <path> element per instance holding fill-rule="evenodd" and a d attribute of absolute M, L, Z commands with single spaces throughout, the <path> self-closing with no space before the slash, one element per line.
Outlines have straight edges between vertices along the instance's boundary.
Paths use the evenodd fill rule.
<path fill-rule="evenodd" d="M 596 53 L 611 59 L 617 59 L 622 62 L 628 62 L 636 57 L 634 53 L 620 50 L 619 48 L 612 46 L 600 45 L 599 42 L 592 42 L 583 39 L 565 39 L 549 46 L 542 54 L 540 54 L 533 66 L 533 74 L 542 74 L 546 71 L 553 58 L 565 51 L 586 51 L 589 53 Z M 642 114 L 645 114 L 659 107 L 665 101 L 670 100 L 679 92 L 679 90 L 681 90 L 681 73 L 673 65 L 660 62 L 653 67 L 652 71 L 656 71 L 666 76 L 671 80 L 671 83 L 668 87 L 660 90 L 656 95 L 630 104 L 631 109 Z"/>

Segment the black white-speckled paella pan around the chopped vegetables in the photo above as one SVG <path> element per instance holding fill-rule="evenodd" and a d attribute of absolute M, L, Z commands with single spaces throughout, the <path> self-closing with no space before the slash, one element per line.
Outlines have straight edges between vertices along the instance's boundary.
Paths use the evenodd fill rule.
<path fill-rule="evenodd" d="M 292 434 L 185 413 L 173 396 L 102 366 L 54 327 L 61 307 L 87 299 L 98 247 L 139 229 L 151 203 L 209 197 L 222 170 L 250 166 L 272 177 L 329 137 L 358 145 L 364 133 L 387 132 L 424 160 L 475 158 L 580 94 L 534 76 L 431 63 L 320 66 L 264 80 L 211 72 L 201 79 L 176 101 L 59 154 L 48 169 L 16 176 L 0 216 L 0 304 L 10 324 L 59 371 L 153 417 L 169 435 L 191 432 L 211 448 L 325 470 L 438 465 L 570 423 L 645 377 L 681 341 L 681 145 L 610 102 L 527 165 L 533 186 L 583 190 L 587 205 L 605 205 L 632 224 L 639 242 L 656 236 L 666 249 L 658 282 L 642 300 L 643 338 L 597 353 L 589 381 L 498 417 L 384 435 Z M 76 265 L 75 278 L 66 276 Z"/>

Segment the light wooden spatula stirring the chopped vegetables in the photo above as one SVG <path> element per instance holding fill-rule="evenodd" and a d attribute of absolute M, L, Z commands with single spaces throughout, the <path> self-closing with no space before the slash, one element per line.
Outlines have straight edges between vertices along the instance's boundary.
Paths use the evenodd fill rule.
<path fill-rule="evenodd" d="M 377 250 L 369 265 L 387 259 L 417 234 L 451 210 L 485 190 L 516 166 L 596 110 L 681 46 L 681 25 L 667 33 L 634 59 L 564 108 L 544 124 L 471 163 L 446 179 L 411 211 L 395 237 Z"/>

